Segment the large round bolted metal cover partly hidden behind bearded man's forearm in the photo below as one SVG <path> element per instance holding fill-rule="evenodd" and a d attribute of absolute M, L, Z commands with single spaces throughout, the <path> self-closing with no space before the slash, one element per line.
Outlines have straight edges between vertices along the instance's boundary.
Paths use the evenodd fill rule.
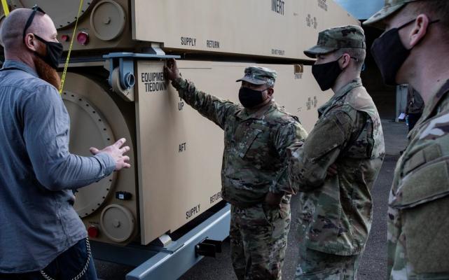
<path fill-rule="evenodd" d="M 88 99 L 64 91 L 62 99 L 70 115 L 69 149 L 76 155 L 91 156 L 91 146 L 104 148 L 114 143 L 112 130 L 102 114 L 95 109 Z M 74 209 L 83 218 L 95 212 L 111 192 L 115 174 L 75 191 Z"/>

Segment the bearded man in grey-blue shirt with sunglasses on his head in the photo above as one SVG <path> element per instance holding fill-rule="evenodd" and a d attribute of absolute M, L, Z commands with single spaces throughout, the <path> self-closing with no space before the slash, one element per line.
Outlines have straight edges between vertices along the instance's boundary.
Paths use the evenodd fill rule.
<path fill-rule="evenodd" d="M 0 279 L 97 279 L 71 190 L 130 167 L 130 148 L 120 139 L 92 157 L 69 153 L 62 45 L 43 10 L 13 10 L 0 38 Z"/>

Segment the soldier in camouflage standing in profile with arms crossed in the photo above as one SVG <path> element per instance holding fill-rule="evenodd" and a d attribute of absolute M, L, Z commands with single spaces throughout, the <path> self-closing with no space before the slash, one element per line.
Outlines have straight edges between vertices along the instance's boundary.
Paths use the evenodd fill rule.
<path fill-rule="evenodd" d="M 326 29 L 305 51 L 333 97 L 318 109 L 308 138 L 288 148 L 291 185 L 300 193 L 296 279 L 357 279 L 372 221 L 371 188 L 385 155 L 378 111 L 361 84 L 366 55 L 359 26 Z"/>

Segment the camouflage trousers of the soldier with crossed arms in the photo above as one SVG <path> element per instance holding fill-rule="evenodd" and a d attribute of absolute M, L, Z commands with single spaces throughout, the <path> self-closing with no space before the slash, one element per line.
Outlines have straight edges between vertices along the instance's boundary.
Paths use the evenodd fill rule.
<path fill-rule="evenodd" d="M 333 255 L 300 248 L 295 280 L 356 280 L 359 255 Z"/>

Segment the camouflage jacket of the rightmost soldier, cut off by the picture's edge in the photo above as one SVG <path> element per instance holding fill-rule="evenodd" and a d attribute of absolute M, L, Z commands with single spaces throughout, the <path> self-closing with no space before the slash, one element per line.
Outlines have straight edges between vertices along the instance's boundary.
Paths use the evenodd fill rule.
<path fill-rule="evenodd" d="M 388 209 L 390 279 L 449 279 L 449 80 L 424 106 Z"/>

